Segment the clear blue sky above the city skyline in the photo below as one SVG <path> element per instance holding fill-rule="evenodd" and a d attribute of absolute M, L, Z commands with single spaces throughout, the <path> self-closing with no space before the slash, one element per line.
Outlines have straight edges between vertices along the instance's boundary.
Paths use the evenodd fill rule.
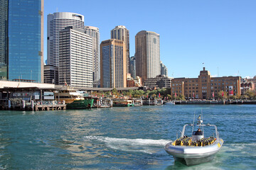
<path fill-rule="evenodd" d="M 47 14 L 73 12 L 85 16 L 86 26 L 100 28 L 100 41 L 110 39 L 115 26 L 126 26 L 130 56 L 140 30 L 159 33 L 161 61 L 169 77 L 198 77 L 203 67 L 215 77 L 254 77 L 255 9 L 255 0 L 45 0 L 44 58 Z"/>

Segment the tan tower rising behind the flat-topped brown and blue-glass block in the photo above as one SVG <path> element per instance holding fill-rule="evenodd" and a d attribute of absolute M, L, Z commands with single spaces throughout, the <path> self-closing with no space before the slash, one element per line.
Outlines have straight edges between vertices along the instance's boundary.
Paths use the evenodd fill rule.
<path fill-rule="evenodd" d="M 125 26 L 116 26 L 111 30 L 111 39 L 123 40 L 126 47 L 127 73 L 129 73 L 129 30 Z"/>

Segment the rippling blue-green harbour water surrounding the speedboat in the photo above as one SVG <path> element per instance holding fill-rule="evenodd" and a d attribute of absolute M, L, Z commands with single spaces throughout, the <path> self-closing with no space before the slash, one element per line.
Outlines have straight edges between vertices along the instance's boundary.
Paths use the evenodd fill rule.
<path fill-rule="evenodd" d="M 225 142 L 212 162 L 185 166 L 164 145 L 195 111 Z M 0 111 L 0 118 L 0 169 L 256 169 L 256 105 Z"/>

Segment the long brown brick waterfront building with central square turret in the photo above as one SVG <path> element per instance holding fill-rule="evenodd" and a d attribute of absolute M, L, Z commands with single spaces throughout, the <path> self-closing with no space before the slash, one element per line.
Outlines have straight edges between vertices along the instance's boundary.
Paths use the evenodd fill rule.
<path fill-rule="evenodd" d="M 211 77 L 203 67 L 198 78 L 175 78 L 171 82 L 172 96 L 185 98 L 216 98 L 218 92 L 225 91 L 228 96 L 240 96 L 241 77 Z"/>

